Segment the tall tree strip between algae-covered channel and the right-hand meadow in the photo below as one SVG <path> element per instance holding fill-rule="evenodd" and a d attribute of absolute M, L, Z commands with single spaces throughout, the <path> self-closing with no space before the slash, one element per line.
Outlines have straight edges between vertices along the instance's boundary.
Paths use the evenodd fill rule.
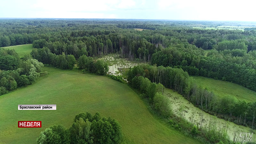
<path fill-rule="evenodd" d="M 148 83 L 161 83 L 166 88 L 171 88 L 180 93 L 188 101 L 207 113 L 216 115 L 236 124 L 249 126 L 253 129 L 255 126 L 256 102 L 246 102 L 237 100 L 233 96 L 219 97 L 213 92 L 198 87 L 188 72 L 181 68 L 171 68 L 156 65 L 139 65 L 131 68 L 127 73 L 127 80 L 134 83 L 138 77 L 143 76 L 148 79 Z M 134 78 L 134 79 L 133 79 Z M 153 88 L 150 85 L 145 86 L 149 90 Z M 150 95 L 148 93 L 148 95 Z"/>

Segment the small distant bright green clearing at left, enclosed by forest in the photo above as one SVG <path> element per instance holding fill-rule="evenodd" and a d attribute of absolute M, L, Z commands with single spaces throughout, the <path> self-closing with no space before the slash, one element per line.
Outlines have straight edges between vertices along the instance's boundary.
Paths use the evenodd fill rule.
<path fill-rule="evenodd" d="M 23 57 L 25 54 L 29 54 L 33 49 L 32 44 L 14 45 L 2 48 L 14 49 L 20 57 Z"/>

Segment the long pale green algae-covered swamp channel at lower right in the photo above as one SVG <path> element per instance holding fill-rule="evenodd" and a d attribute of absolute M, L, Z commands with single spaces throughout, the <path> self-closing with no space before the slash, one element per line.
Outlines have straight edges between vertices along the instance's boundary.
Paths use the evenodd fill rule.
<path fill-rule="evenodd" d="M 172 89 L 165 89 L 165 94 L 171 102 L 172 111 L 177 115 L 184 117 L 187 121 L 200 125 L 202 122 L 202 127 L 209 128 L 209 124 L 216 125 L 219 131 L 223 129 L 227 131 L 230 140 L 241 141 L 239 134 L 241 132 L 253 132 L 249 127 L 242 125 L 237 125 L 233 122 L 226 121 L 224 119 L 218 118 L 216 116 L 210 115 L 200 108 L 195 107 L 191 102 L 186 100 L 182 95 L 173 91 Z M 255 135 L 252 136 L 253 141 L 255 141 Z"/>

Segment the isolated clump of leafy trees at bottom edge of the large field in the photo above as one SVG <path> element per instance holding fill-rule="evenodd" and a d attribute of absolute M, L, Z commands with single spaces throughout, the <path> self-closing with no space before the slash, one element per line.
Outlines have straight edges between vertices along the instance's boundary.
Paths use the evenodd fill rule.
<path fill-rule="evenodd" d="M 79 113 L 69 129 L 62 125 L 46 128 L 36 140 L 38 144 L 119 144 L 122 140 L 120 124 L 99 113 Z"/>

